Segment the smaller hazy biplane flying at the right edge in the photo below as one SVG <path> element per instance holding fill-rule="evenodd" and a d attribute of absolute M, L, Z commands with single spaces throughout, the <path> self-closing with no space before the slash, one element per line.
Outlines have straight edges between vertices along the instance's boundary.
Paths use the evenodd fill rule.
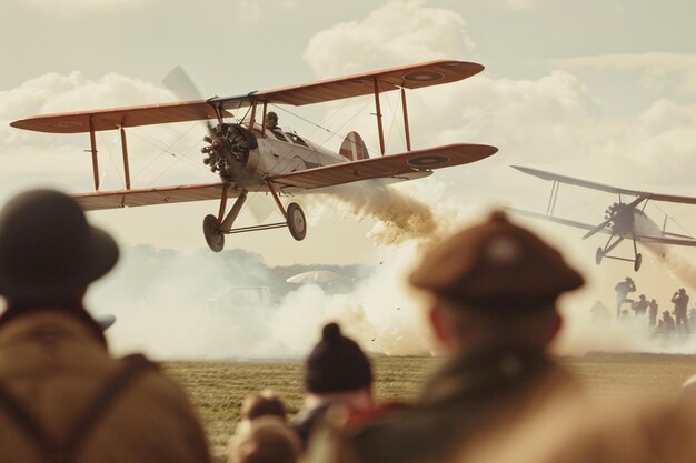
<path fill-rule="evenodd" d="M 609 239 L 607 240 L 606 244 L 603 248 L 597 248 L 597 251 L 595 253 L 595 262 L 597 263 L 597 265 L 599 265 L 601 263 L 601 260 L 605 258 L 615 259 L 633 262 L 634 271 L 637 272 L 640 269 L 640 263 L 643 262 L 643 255 L 638 252 L 636 245 L 636 243 L 638 242 L 660 245 L 667 244 L 696 246 L 696 239 L 694 239 L 693 236 L 679 233 L 672 233 L 665 230 L 667 225 L 667 215 L 665 215 L 663 227 L 660 228 L 645 213 L 645 207 L 649 201 L 696 204 L 696 198 L 678 197 L 674 194 L 658 194 L 638 190 L 626 190 L 623 188 L 606 185 L 603 183 L 575 179 L 573 177 L 561 175 L 558 173 L 545 172 L 538 169 L 525 168 L 520 165 L 511 167 L 529 175 L 535 175 L 543 180 L 550 180 L 551 193 L 546 209 L 546 214 L 524 211 L 514 208 L 509 209 L 516 213 L 528 215 L 535 219 L 547 220 L 550 222 L 587 230 L 587 233 L 583 235 L 583 239 L 593 236 L 596 233 L 608 234 Z M 605 210 L 604 220 L 596 225 L 564 219 L 554 215 L 560 183 L 617 194 L 618 201 L 609 204 L 609 207 Z M 626 197 L 628 197 L 628 199 Z M 627 259 L 617 255 L 610 255 L 609 253 L 614 251 L 614 249 L 626 239 L 630 239 L 633 241 L 634 258 Z"/>

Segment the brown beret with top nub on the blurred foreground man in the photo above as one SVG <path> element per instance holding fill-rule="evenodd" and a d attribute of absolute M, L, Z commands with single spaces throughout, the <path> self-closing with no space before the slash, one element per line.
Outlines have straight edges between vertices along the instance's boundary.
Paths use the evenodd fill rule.
<path fill-rule="evenodd" d="M 550 309 L 559 294 L 585 282 L 558 251 L 510 223 L 503 211 L 437 244 L 409 281 L 454 301 L 501 311 Z"/>

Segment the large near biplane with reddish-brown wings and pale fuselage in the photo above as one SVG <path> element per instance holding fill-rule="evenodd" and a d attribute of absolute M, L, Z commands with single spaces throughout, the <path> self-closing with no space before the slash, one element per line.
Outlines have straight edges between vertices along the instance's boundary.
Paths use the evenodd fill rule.
<path fill-rule="evenodd" d="M 406 105 L 406 90 L 456 82 L 484 70 L 481 64 L 438 60 L 381 71 L 354 74 L 301 85 L 256 91 L 230 98 L 183 101 L 61 114 L 36 115 L 11 123 L 19 129 L 48 133 L 89 133 L 91 142 L 95 191 L 74 194 L 87 210 L 170 204 L 186 201 L 219 200 L 217 215 L 203 220 L 203 233 L 213 251 L 225 246 L 225 235 L 255 230 L 288 227 L 296 240 L 307 232 L 305 214 L 296 202 L 284 207 L 281 193 L 297 193 L 367 179 L 404 181 L 426 177 L 432 169 L 475 162 L 494 154 L 497 148 L 485 144 L 448 144 L 411 150 Z M 400 90 L 406 152 L 385 155 L 385 135 L 380 111 L 380 93 Z M 294 132 L 269 128 L 266 123 L 269 104 L 296 107 L 339 99 L 375 97 L 380 154 L 370 158 L 356 132 L 350 132 L 334 152 Z M 243 110 L 240 119 L 235 112 Z M 205 120 L 208 124 L 203 162 L 220 177 L 207 184 L 132 189 L 128 165 L 126 129 L 138 125 Z M 99 191 L 99 163 L 96 132 L 118 130 L 123 154 L 121 190 Z M 285 221 L 233 229 L 247 194 L 270 192 Z M 229 198 L 236 198 L 227 211 Z"/>

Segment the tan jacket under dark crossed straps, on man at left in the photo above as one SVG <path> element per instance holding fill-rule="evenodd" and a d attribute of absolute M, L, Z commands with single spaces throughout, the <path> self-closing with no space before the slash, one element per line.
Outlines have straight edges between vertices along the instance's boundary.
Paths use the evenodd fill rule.
<path fill-rule="evenodd" d="M 123 361 L 91 328 L 58 310 L 8 321 L 0 330 L 0 381 L 62 442 Z M 77 463 L 210 461 L 203 431 L 180 386 L 148 369 L 90 429 Z M 42 462 L 37 445 L 0 409 L 0 462 Z"/>

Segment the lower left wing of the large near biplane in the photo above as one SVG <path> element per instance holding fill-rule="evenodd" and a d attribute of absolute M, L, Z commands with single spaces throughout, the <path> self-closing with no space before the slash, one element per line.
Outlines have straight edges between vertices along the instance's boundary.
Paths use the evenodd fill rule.
<path fill-rule="evenodd" d="M 141 190 L 96 191 L 73 194 L 86 211 L 100 209 L 135 208 L 138 205 L 171 204 L 175 202 L 219 200 L 222 198 L 222 183 L 181 187 L 162 187 Z M 228 190 L 228 198 L 237 192 Z"/>

